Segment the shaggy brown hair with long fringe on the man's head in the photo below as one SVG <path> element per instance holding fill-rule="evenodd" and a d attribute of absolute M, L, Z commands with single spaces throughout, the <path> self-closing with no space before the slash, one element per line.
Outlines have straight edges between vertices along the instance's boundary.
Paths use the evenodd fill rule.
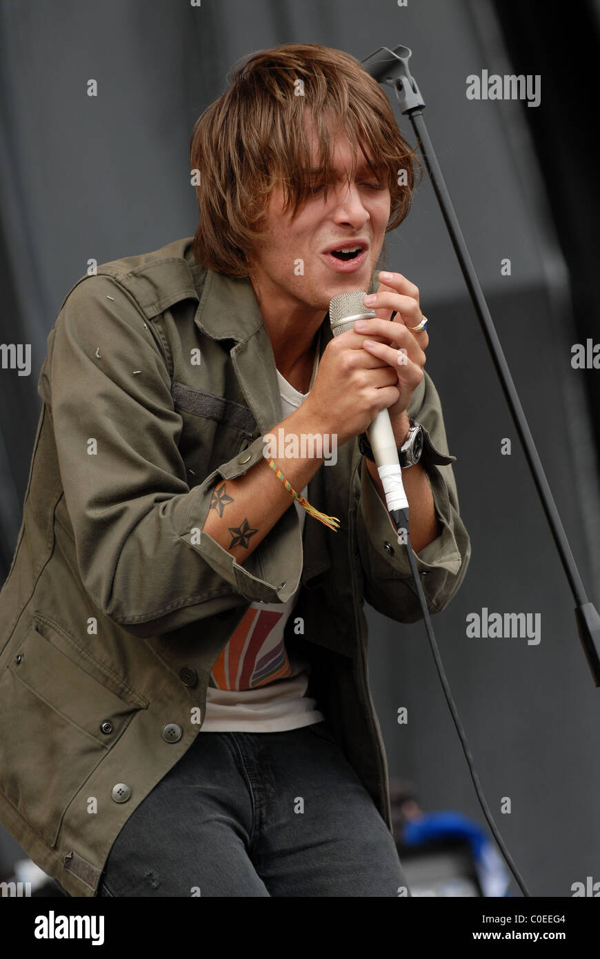
<path fill-rule="evenodd" d="M 296 93 L 302 89 L 298 81 L 304 84 L 303 95 Z M 190 160 L 199 172 L 200 220 L 193 245 L 198 263 L 230 276 L 248 276 L 246 253 L 266 235 L 266 205 L 276 183 L 283 187 L 284 213 L 291 208 L 292 218 L 311 197 L 307 106 L 318 136 L 325 196 L 333 181 L 333 117 L 348 136 L 352 174 L 362 149 L 372 154 L 371 171 L 381 182 L 387 179 L 391 207 L 385 232 L 403 222 L 415 185 L 413 160 L 420 178 L 423 170 L 380 84 L 349 54 L 315 43 L 288 43 L 247 59 L 229 88 L 196 120 Z M 401 170 L 406 185 L 398 183 Z"/>

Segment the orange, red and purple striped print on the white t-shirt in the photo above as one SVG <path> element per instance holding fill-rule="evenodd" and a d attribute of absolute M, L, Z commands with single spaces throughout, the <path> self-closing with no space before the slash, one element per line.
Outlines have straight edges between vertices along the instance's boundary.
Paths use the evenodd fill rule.
<path fill-rule="evenodd" d="M 284 614 L 250 606 L 225 643 L 211 678 L 219 690 L 254 690 L 291 675 L 284 643 Z"/>

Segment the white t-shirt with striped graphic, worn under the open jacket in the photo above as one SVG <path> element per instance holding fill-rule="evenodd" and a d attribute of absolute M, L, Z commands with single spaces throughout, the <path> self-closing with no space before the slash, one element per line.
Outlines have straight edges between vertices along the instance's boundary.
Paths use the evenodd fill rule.
<path fill-rule="evenodd" d="M 309 394 L 290 386 L 279 370 L 277 379 L 284 419 Z M 279 481 L 273 474 L 273 482 Z M 308 485 L 300 495 L 307 493 Z M 306 510 L 296 500 L 293 506 L 302 531 Z M 300 586 L 286 603 L 254 602 L 246 611 L 211 672 L 200 732 L 277 733 L 325 718 L 316 700 L 306 695 L 310 664 L 289 657 L 284 643 L 284 628 L 299 592 Z"/>

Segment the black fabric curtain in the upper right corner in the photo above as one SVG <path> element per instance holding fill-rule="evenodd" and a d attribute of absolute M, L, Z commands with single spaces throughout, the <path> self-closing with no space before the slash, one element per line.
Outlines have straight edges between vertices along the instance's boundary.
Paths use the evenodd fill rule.
<path fill-rule="evenodd" d="M 514 72 L 540 74 L 542 102 L 523 109 L 569 272 L 577 342 L 598 344 L 597 366 L 579 372 L 600 448 L 600 288 L 598 287 L 598 50 L 600 4 L 568 8 L 535 0 L 495 0 Z M 554 15 L 553 15 L 554 13 Z"/>

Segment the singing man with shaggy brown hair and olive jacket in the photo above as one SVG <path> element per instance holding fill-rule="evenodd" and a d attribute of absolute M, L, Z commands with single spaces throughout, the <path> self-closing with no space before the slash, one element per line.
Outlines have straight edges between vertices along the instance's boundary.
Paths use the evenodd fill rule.
<path fill-rule="evenodd" d="M 0 594 L 0 821 L 69 895 L 408 895 L 362 609 L 422 616 L 358 448 L 381 409 L 425 439 L 431 612 L 470 542 L 419 291 L 380 275 L 335 339 L 328 309 L 372 288 L 411 162 L 356 59 L 265 51 L 196 124 L 194 242 L 63 302 Z"/>

